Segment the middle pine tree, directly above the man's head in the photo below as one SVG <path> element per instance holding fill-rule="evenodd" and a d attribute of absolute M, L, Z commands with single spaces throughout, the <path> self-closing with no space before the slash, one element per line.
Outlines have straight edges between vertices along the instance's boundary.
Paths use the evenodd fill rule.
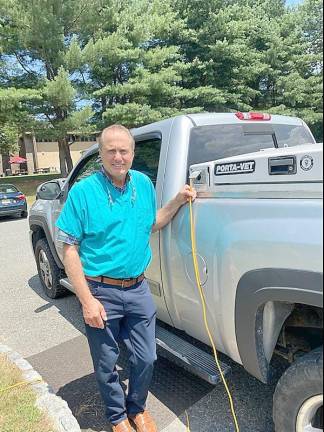
<path fill-rule="evenodd" d="M 112 4 L 96 15 L 97 31 L 85 37 L 82 50 L 99 125 L 139 126 L 191 111 L 183 102 L 183 59 L 177 46 L 167 44 L 171 35 L 185 32 L 172 2 Z"/>

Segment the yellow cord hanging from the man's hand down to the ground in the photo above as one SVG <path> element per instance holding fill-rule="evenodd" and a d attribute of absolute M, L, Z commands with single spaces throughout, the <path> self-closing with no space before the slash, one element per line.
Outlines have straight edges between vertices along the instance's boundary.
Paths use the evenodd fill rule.
<path fill-rule="evenodd" d="M 191 189 L 193 188 L 193 182 L 192 180 L 190 180 L 190 187 Z M 200 279 L 200 273 L 199 273 L 199 266 L 198 266 L 198 260 L 197 260 L 197 246 L 196 246 L 196 235 L 195 235 L 195 221 L 194 221 L 194 217 L 193 217 L 193 210 L 192 210 L 192 200 L 190 199 L 189 201 L 189 210 L 190 210 L 190 233 L 191 233 L 191 246 L 192 246 L 192 258 L 193 258 L 193 265 L 194 265 L 194 269 L 195 269 L 195 276 L 196 276 L 196 282 L 197 282 L 197 286 L 199 289 L 199 294 L 200 294 L 200 298 L 201 298 L 201 303 L 202 303 L 202 308 L 203 308 L 203 315 L 204 315 L 204 323 L 205 323 L 205 327 L 209 336 L 209 340 L 210 343 L 213 347 L 213 352 L 214 352 L 214 358 L 219 370 L 219 373 L 222 377 L 222 381 L 223 384 L 225 386 L 227 395 L 228 395 L 228 399 L 230 402 L 230 407 L 231 407 L 231 412 L 232 412 L 232 416 L 233 416 L 233 420 L 235 423 L 235 428 L 236 428 L 236 432 L 240 432 L 240 428 L 239 428 L 239 424 L 238 424 L 238 420 L 237 420 L 237 416 L 235 413 L 235 408 L 234 408 L 234 403 L 233 403 L 233 398 L 230 392 L 230 389 L 227 385 L 224 373 L 222 371 L 219 359 L 218 359 L 218 353 L 215 347 L 215 343 L 213 340 L 213 336 L 211 334 L 211 331 L 209 329 L 209 324 L 208 324 L 208 318 L 207 318 L 207 306 L 206 306 L 206 297 L 205 297 L 205 293 L 203 291 L 202 288 L 202 284 L 201 284 L 201 279 Z M 188 431 L 190 432 L 190 427 L 189 427 L 189 423 L 188 423 Z"/>

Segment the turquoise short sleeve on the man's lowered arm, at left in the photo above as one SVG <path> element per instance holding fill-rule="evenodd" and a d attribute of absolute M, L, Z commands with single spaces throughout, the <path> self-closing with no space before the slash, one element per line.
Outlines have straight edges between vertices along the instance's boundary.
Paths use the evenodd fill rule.
<path fill-rule="evenodd" d="M 84 203 L 78 185 L 73 187 L 56 222 L 57 228 L 73 238 L 78 243 L 83 238 Z"/>

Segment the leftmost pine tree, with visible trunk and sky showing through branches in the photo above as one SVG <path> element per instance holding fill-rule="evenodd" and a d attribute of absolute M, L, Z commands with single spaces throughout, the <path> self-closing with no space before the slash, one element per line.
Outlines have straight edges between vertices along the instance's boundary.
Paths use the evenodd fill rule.
<path fill-rule="evenodd" d="M 36 133 L 58 140 L 63 176 L 73 167 L 67 132 L 80 126 L 73 124 L 78 90 L 65 67 L 65 56 L 87 6 L 88 2 L 76 0 L 2 0 L 0 4 L 2 51 L 12 70 L 2 86 L 32 88 L 41 95 L 30 107 L 37 120 L 31 126 Z M 86 124 L 89 115 L 89 109 L 81 109 L 77 118 L 83 117 Z"/>

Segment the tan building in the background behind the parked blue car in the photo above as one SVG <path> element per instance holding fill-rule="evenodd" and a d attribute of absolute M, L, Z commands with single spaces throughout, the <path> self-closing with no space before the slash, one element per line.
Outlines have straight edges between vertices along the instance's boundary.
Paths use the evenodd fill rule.
<path fill-rule="evenodd" d="M 82 154 L 97 142 L 97 136 L 68 137 L 73 165 Z M 9 155 L 0 155 L 0 177 L 7 175 L 24 175 L 37 173 L 59 173 L 60 159 L 58 143 L 54 141 L 36 140 L 33 134 L 25 133 L 19 139 L 19 152 L 16 156 L 26 159 L 26 163 L 10 164 Z"/>

